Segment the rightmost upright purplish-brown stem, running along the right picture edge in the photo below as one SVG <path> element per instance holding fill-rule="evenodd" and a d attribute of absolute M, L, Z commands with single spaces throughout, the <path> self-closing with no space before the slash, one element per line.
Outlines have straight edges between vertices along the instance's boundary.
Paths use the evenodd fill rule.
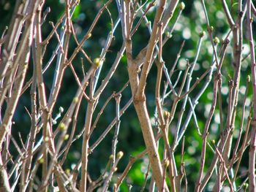
<path fill-rule="evenodd" d="M 252 71 L 252 88 L 253 88 L 253 118 L 251 129 L 251 142 L 249 150 L 249 191 L 255 191 L 255 153 L 256 153 L 256 62 L 255 62 L 255 46 L 252 36 L 252 1 L 247 0 L 247 31 L 249 39 L 249 47 L 251 51 L 251 71 Z"/>

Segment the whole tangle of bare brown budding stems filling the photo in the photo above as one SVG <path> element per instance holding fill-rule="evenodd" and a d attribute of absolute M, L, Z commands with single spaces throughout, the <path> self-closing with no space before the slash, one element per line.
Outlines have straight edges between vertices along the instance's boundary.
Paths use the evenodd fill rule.
<path fill-rule="evenodd" d="M 143 189 L 148 191 L 203 191 L 209 180 L 214 178 L 212 191 L 221 191 L 223 185 L 227 185 L 230 191 L 246 191 L 244 183 L 249 181 L 249 191 L 255 191 L 255 150 L 256 150 L 256 62 L 255 45 L 253 40 L 253 18 L 256 9 L 251 0 L 238 0 L 236 14 L 230 13 L 230 7 L 225 0 L 222 0 L 222 9 L 225 12 L 230 31 L 223 39 L 221 45 L 219 39 L 214 37 L 214 27 L 208 19 L 208 7 L 205 1 L 201 0 L 203 7 L 203 19 L 206 20 L 205 28 L 208 33 L 202 31 L 198 34 L 198 43 L 195 58 L 192 62 L 187 60 L 187 66 L 182 75 L 173 78 L 173 73 L 177 68 L 178 60 L 184 47 L 180 47 L 177 57 L 173 61 L 170 69 L 165 64 L 162 52 L 166 42 L 172 38 L 176 23 L 185 8 L 183 2 L 178 0 L 159 1 L 138 1 L 138 0 L 109 0 L 95 13 L 95 18 L 86 31 L 82 39 L 78 39 L 72 14 L 80 3 L 78 0 L 66 0 L 64 14 L 56 23 L 47 20 L 45 0 L 17 1 L 15 10 L 10 20 L 10 25 L 0 39 L 0 191 L 120 191 L 120 186 L 124 182 L 129 170 L 135 161 L 145 156 L 149 159 L 148 172 L 146 174 Z M 91 3 L 94 3 L 91 1 Z M 113 18 L 108 7 L 115 7 L 118 10 L 118 18 Z M 52 11 L 54 7 L 50 7 Z M 43 10 L 45 10 L 43 12 Z M 174 13 L 177 16 L 173 17 Z M 99 19 L 103 13 L 109 15 L 111 23 L 108 37 L 105 38 L 105 45 L 97 58 L 91 58 L 83 45 L 94 36 L 94 28 L 99 25 Z M 148 18 L 148 14 L 154 18 Z M 235 16 L 233 16 L 235 15 Z M 236 18 L 236 19 L 235 19 Z M 116 20 L 116 21 L 113 21 Z M 169 24 L 171 20 L 171 25 Z M 42 36 L 42 27 L 52 26 L 52 31 L 48 37 Z M 133 47 L 135 42 L 132 37 L 140 26 L 146 25 L 150 38 L 145 42 L 145 47 L 140 50 L 137 56 L 134 55 Z M 121 26 L 121 34 L 116 28 Z M 107 29 L 106 29 L 107 30 Z M 246 32 L 244 32 L 246 31 Z M 198 32 L 198 31 L 196 31 Z M 246 33 L 246 34 L 243 34 Z M 116 53 L 113 64 L 105 67 L 102 73 L 102 66 L 105 65 L 106 55 L 110 52 L 109 47 L 115 35 L 123 37 L 123 45 Z M 245 40 L 246 38 L 246 40 Z M 49 53 L 49 45 L 58 41 L 50 58 L 45 58 Z M 70 42 L 75 42 L 75 49 L 69 47 Z M 212 58 L 211 65 L 202 72 L 200 77 L 195 77 L 193 72 L 197 64 L 197 58 L 203 46 L 203 41 L 211 42 Z M 239 98 L 239 88 L 241 79 L 241 64 L 246 59 L 243 58 L 243 45 L 249 42 L 251 61 L 252 83 L 247 77 L 246 93 L 242 99 Z M 224 104 L 222 91 L 222 70 L 227 49 L 233 49 L 232 63 L 233 77 L 228 81 L 228 101 Z M 117 67 L 121 58 L 125 55 L 127 66 L 121 66 L 129 74 L 127 83 L 122 88 L 113 90 L 113 94 L 104 99 L 107 85 L 112 83 L 110 79 L 117 72 Z M 81 58 L 84 66 L 83 78 L 81 78 L 74 66 L 78 65 L 75 59 Z M 50 66 L 55 65 L 50 91 L 45 88 L 45 72 Z M 152 66 L 157 66 L 157 81 L 154 88 L 155 114 L 153 128 L 151 117 L 148 113 L 146 84 Z M 29 67 L 28 67 L 29 66 Z M 27 71 L 33 71 L 29 77 Z M 61 97 L 60 90 L 65 85 L 63 83 L 64 74 L 67 69 L 71 69 L 73 77 L 78 84 L 78 89 L 72 94 L 72 102 L 67 110 L 59 108 L 56 102 Z M 101 82 L 99 82 L 102 80 Z M 199 86 L 200 85 L 200 86 Z M 246 98 L 249 87 L 253 88 L 251 112 L 246 113 Z M 132 95 L 121 107 L 122 93 L 130 88 Z M 195 89 L 197 92 L 195 93 Z M 212 104 L 203 127 L 197 124 L 197 112 L 195 108 L 200 97 L 211 89 Z M 26 106 L 31 120 L 29 134 L 20 136 L 23 141 L 19 145 L 13 133 L 13 118 L 18 107 L 20 97 L 30 90 L 31 104 Z M 194 93 L 193 93 L 194 91 Z M 193 93 L 193 94 L 192 94 Z M 242 106 L 238 101 L 243 100 Z M 99 101 L 105 102 L 99 109 Z M 116 102 L 116 109 L 113 110 L 115 118 L 105 126 L 104 131 L 97 138 L 91 140 L 91 135 L 97 128 L 97 123 L 110 101 Z M 165 107 L 166 101 L 170 102 L 170 107 Z M 80 133 L 77 129 L 77 120 L 80 115 L 81 103 L 86 102 L 86 117 Z M 135 107 L 140 128 L 143 133 L 145 150 L 129 158 L 129 163 L 123 172 L 118 174 L 118 178 L 113 180 L 116 174 L 118 163 L 124 153 L 116 151 L 118 134 L 121 128 L 121 116 L 129 106 Z M 217 140 L 209 139 L 211 134 L 209 128 L 212 123 L 216 108 L 219 109 L 219 135 Z M 59 108 L 56 115 L 54 111 Z M 241 123 L 238 124 L 237 111 L 242 110 Z M 247 107 L 248 108 L 248 107 Z M 99 109 L 99 112 L 95 112 Z M 226 110 L 227 109 L 227 110 Z M 248 109 L 247 109 L 248 110 Z M 185 117 L 185 118 L 184 118 Z M 226 117 L 226 118 L 224 118 Z M 124 117 L 122 117 L 125 119 Z M 175 120 L 175 118 L 177 120 Z M 195 121 L 198 136 L 202 146 L 200 148 L 200 161 L 197 162 L 199 171 L 197 173 L 197 183 L 195 189 L 189 188 L 186 174 L 186 160 L 184 150 L 186 149 L 186 133 L 191 120 Z M 58 123 L 58 126 L 55 124 Z M 244 126 L 246 124 L 246 126 Z M 22 125 L 20 125 L 22 126 Z M 245 127 L 245 128 L 244 128 Z M 105 166 L 105 171 L 97 178 L 91 180 L 89 172 L 89 155 L 94 153 L 96 147 L 114 129 L 112 147 L 108 152 L 110 158 Z M 171 129 L 175 131 L 171 131 Z M 233 131 L 239 131 L 238 139 L 233 139 Z M 202 133 L 201 133 L 202 131 Z M 83 137 L 82 137 L 83 136 Z M 64 164 L 67 163 L 67 155 L 73 143 L 80 139 L 81 158 L 71 172 L 64 171 Z M 159 141 L 164 143 L 161 145 Z M 236 143 L 234 143 L 236 141 Z M 10 145 L 15 146 L 18 151 L 17 156 L 12 155 Z M 91 145 L 89 145 L 91 144 Z M 211 164 L 206 166 L 206 148 L 211 149 Z M 241 159 L 246 148 L 249 147 L 248 169 L 244 173 L 244 180 L 238 183 Z M 160 149 L 161 148 L 161 149 Z M 181 149 L 181 150 L 177 150 Z M 181 162 L 177 163 L 176 155 L 181 155 Z M 99 162 L 100 163 L 100 162 Z M 215 172 L 214 172 L 215 171 Z M 152 177 L 148 177 L 151 172 Z M 146 181 L 150 180 L 150 183 Z M 146 186 L 147 185 L 147 186 Z"/>

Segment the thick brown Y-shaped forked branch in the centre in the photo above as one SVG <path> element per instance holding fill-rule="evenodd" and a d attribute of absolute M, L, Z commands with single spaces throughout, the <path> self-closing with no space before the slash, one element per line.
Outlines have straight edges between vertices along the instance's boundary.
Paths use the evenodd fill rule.
<path fill-rule="evenodd" d="M 126 0 L 124 2 L 124 9 L 126 12 L 129 12 L 129 4 L 130 1 Z M 126 50 L 127 50 L 127 62 L 128 62 L 128 74 L 129 74 L 129 82 L 132 89 L 132 96 L 133 96 L 133 103 L 135 106 L 135 110 L 138 115 L 138 119 L 140 121 L 140 126 L 143 132 L 143 139 L 146 143 L 146 148 L 148 150 L 148 156 L 151 164 L 151 168 L 153 170 L 154 180 L 156 180 L 157 187 L 160 189 L 162 187 L 162 166 L 159 159 L 159 155 L 157 153 L 157 145 L 154 139 L 154 133 L 152 131 L 151 121 L 148 115 L 148 110 L 146 107 L 146 97 L 144 95 L 144 89 L 146 86 L 146 77 L 148 75 L 148 69 L 151 64 L 151 57 L 154 51 L 154 47 L 156 45 L 156 40 L 158 39 L 158 28 L 159 28 L 159 21 L 162 17 L 162 12 L 165 8 L 165 0 L 160 1 L 159 7 L 157 9 L 157 15 L 154 20 L 154 27 L 151 33 L 151 38 L 148 42 L 147 52 L 146 52 L 146 58 L 144 60 L 144 66 L 142 73 L 140 75 L 140 81 L 138 78 L 138 66 L 140 64 L 134 62 L 132 59 L 132 42 L 130 39 L 130 31 L 129 28 L 131 25 L 127 23 L 127 21 L 130 20 L 130 18 L 124 17 L 124 15 L 119 15 L 121 18 L 122 28 L 124 28 L 128 34 L 123 34 L 123 37 L 125 37 L 124 41 L 126 43 Z M 128 16 L 129 17 L 129 16 Z M 123 33 L 124 33 L 123 31 Z M 140 60 L 140 59 L 139 59 Z M 140 88 L 138 88 L 140 86 Z M 165 186 L 167 186 L 165 184 Z M 167 187 L 165 187 L 165 190 L 168 191 Z"/>

